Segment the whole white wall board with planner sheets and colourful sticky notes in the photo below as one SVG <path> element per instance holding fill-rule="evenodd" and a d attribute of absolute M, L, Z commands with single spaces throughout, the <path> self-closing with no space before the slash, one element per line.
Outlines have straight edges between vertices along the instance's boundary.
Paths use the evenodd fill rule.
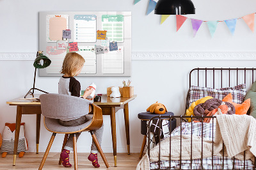
<path fill-rule="evenodd" d="M 131 12 L 39 12 L 39 50 L 39 76 L 61 76 L 67 52 L 85 60 L 78 76 L 131 76 Z"/>

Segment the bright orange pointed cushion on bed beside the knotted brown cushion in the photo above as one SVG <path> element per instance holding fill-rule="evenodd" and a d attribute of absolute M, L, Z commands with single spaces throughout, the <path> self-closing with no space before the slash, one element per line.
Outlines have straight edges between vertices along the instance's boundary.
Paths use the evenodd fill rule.
<path fill-rule="evenodd" d="M 229 93 L 226 97 L 223 98 L 222 100 L 223 102 L 229 102 L 230 104 L 234 105 L 235 109 L 236 109 L 236 114 L 246 114 L 249 107 L 250 107 L 250 102 L 251 99 L 248 98 L 247 100 L 245 100 L 243 102 L 243 104 L 236 104 L 234 102 L 232 102 L 232 95 L 231 93 Z"/>

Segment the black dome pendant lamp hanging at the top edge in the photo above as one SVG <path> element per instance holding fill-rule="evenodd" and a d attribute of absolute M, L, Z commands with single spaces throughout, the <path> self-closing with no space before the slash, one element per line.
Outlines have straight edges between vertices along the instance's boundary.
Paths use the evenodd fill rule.
<path fill-rule="evenodd" d="M 195 6 L 191 0 L 159 0 L 155 14 L 158 15 L 186 15 L 195 14 Z"/>

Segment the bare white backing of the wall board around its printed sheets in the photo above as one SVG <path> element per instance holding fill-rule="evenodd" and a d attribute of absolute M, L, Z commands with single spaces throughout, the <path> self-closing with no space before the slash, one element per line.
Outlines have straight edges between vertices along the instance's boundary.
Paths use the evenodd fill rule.
<path fill-rule="evenodd" d="M 78 76 L 131 76 L 131 12 L 39 12 L 39 50 L 46 53 L 47 46 L 56 46 L 56 42 L 46 41 L 46 17 L 47 15 L 68 15 L 68 28 L 71 30 L 71 39 L 74 40 L 74 15 L 96 15 L 97 30 L 102 30 L 102 15 L 124 15 L 124 42 L 118 42 L 118 46 L 124 47 L 124 73 L 103 73 L 102 54 L 97 54 L 96 73 L 80 73 Z M 101 40 L 96 42 L 78 42 L 79 46 L 100 45 Z M 61 76 L 61 73 L 47 73 L 46 68 L 38 69 L 39 76 Z"/>

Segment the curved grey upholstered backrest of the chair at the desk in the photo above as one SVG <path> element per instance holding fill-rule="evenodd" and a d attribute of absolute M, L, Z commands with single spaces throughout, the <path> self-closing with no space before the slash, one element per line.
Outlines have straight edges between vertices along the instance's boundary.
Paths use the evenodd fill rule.
<path fill-rule="evenodd" d="M 90 100 L 62 94 L 40 95 L 42 115 L 53 119 L 76 119 L 89 112 Z"/>

